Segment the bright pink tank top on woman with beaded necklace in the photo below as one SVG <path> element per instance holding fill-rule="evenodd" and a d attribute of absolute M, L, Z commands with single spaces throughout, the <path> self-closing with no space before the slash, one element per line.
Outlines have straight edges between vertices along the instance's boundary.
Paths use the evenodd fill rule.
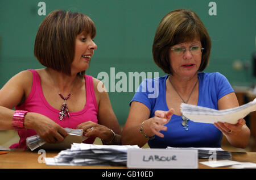
<path fill-rule="evenodd" d="M 70 118 L 64 118 L 60 121 L 59 110 L 53 108 L 43 95 L 40 76 L 36 70 L 28 69 L 33 74 L 32 89 L 28 95 L 26 101 L 20 106 L 16 106 L 15 110 L 26 110 L 28 112 L 37 112 L 39 114 L 47 116 L 54 122 L 59 124 L 61 127 L 76 128 L 77 125 L 92 121 L 98 123 L 98 106 L 96 96 L 94 93 L 93 79 L 92 76 L 85 75 L 85 89 L 86 89 L 86 104 L 81 111 L 69 112 Z M 58 94 L 56 94 L 58 95 Z M 27 148 L 26 138 L 36 135 L 34 129 L 24 129 L 18 131 L 20 137 L 19 143 L 15 143 L 10 148 Z M 83 141 L 83 143 L 92 144 L 96 137 L 90 137 Z"/>

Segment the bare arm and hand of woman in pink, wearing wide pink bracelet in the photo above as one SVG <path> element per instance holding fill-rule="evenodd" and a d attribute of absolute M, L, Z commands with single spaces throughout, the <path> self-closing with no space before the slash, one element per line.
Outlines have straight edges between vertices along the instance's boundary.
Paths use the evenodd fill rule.
<path fill-rule="evenodd" d="M 0 129 L 13 129 L 12 121 L 14 110 L 21 104 L 30 93 L 32 86 L 32 73 L 28 71 L 20 72 L 11 78 L 0 90 Z M 24 118 L 24 127 L 34 129 L 40 137 L 47 143 L 63 141 L 67 132 L 60 125 L 53 122 L 46 116 L 28 112 Z"/>

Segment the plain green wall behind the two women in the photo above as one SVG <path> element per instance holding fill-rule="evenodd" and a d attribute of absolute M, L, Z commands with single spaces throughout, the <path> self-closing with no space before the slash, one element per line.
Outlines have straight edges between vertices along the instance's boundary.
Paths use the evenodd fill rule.
<path fill-rule="evenodd" d="M 33 55 L 36 32 L 44 15 L 38 15 L 40 1 L 0 1 L 0 87 L 14 74 L 26 69 L 38 69 Z M 217 15 L 209 15 L 209 2 L 153 1 L 153 0 L 94 0 L 94 1 L 43 1 L 46 14 L 56 9 L 82 12 L 94 21 L 98 49 L 87 74 L 93 77 L 100 72 L 109 74 L 110 68 L 118 72 L 164 73 L 152 60 L 152 41 L 158 23 L 168 12 L 175 9 L 191 9 L 200 16 L 212 39 L 212 52 L 205 72 L 224 74 L 233 86 L 252 86 L 252 53 L 255 52 L 255 0 L 214 1 Z M 241 69 L 233 68 L 240 62 Z M 238 64 L 239 65 L 239 64 Z M 153 76 L 154 77 L 154 76 Z M 128 82 L 128 80 L 127 80 Z M 109 82 L 110 83 L 110 82 Z M 134 90 L 135 91 L 135 90 Z M 119 123 L 123 125 L 129 111 L 133 92 L 109 92 L 110 100 Z"/>

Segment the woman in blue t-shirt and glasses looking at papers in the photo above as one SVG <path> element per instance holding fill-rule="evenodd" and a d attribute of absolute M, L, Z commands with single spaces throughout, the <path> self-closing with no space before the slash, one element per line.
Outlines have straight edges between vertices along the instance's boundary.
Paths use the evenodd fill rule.
<path fill-rule="evenodd" d="M 164 16 L 152 53 L 155 63 L 169 75 L 141 83 L 130 103 L 122 144 L 220 147 L 223 133 L 233 146 L 247 146 L 250 130 L 244 119 L 237 124 L 207 124 L 192 122 L 181 114 L 181 103 L 216 110 L 239 106 L 228 79 L 220 73 L 203 72 L 210 48 L 208 32 L 195 12 L 179 9 Z"/>

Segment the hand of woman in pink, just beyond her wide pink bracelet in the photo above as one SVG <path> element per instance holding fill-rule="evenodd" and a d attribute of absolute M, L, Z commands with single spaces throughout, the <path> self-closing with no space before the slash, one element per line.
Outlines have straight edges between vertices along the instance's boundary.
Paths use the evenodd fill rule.
<path fill-rule="evenodd" d="M 24 127 L 34 129 L 46 143 L 56 143 L 64 140 L 67 131 L 44 115 L 28 112 L 24 118 Z"/>

